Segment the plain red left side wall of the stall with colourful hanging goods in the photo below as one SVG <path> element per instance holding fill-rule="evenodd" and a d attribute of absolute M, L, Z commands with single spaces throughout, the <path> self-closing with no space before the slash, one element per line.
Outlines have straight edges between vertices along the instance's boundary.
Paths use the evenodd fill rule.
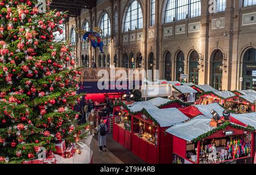
<path fill-rule="evenodd" d="M 180 157 L 186 157 L 186 146 L 187 146 L 187 141 L 183 140 L 181 138 L 178 138 L 177 136 L 173 136 L 174 138 L 174 151 L 176 155 Z"/>

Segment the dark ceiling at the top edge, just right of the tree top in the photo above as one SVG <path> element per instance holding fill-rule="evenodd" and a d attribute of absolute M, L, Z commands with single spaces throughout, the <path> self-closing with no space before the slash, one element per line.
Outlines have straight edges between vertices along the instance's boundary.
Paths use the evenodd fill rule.
<path fill-rule="evenodd" d="M 69 16 L 79 16 L 81 9 L 96 7 L 96 0 L 53 0 L 50 7 L 58 11 L 68 11 Z"/>

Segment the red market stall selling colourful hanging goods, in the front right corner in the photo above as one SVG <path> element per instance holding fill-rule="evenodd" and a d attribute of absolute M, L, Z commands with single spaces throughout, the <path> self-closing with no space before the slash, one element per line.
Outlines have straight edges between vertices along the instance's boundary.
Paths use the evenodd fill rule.
<path fill-rule="evenodd" d="M 253 163 L 255 129 L 229 121 L 213 127 L 212 122 L 211 118 L 198 116 L 167 130 L 174 137 L 173 163 Z"/>

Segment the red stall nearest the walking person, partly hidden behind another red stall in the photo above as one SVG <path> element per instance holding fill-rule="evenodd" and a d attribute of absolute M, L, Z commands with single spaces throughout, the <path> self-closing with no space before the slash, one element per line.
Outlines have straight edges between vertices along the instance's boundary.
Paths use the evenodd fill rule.
<path fill-rule="evenodd" d="M 131 131 L 133 131 L 133 115 L 142 109 L 158 109 L 148 102 L 135 102 L 131 105 L 122 102 L 114 107 L 113 139 L 131 150 Z"/>

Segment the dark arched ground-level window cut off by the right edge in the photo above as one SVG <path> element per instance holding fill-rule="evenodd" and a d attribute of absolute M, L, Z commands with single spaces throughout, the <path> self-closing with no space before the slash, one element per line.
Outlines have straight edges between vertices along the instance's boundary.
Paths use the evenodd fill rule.
<path fill-rule="evenodd" d="M 243 56 L 243 89 L 256 91 L 256 49 L 250 48 Z"/>

